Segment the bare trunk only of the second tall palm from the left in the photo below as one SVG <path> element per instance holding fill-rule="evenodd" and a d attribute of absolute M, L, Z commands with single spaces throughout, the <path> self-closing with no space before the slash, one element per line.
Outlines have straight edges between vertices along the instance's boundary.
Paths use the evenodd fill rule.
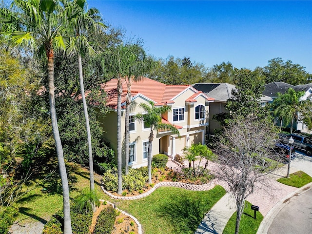
<path fill-rule="evenodd" d="M 82 98 L 82 103 L 83 103 L 84 118 L 86 120 L 86 129 L 87 129 L 87 138 L 88 138 L 90 191 L 94 191 L 94 172 L 93 172 L 91 130 L 90 130 L 90 122 L 89 122 L 87 102 L 86 102 L 86 97 L 85 97 L 85 94 L 84 94 L 83 75 L 82 75 L 82 63 L 81 63 L 81 55 L 80 54 L 78 54 L 78 66 L 79 66 L 80 91 L 81 91 L 81 98 Z M 91 204 L 91 205 L 93 207 L 93 210 L 95 211 L 95 204 Z"/>

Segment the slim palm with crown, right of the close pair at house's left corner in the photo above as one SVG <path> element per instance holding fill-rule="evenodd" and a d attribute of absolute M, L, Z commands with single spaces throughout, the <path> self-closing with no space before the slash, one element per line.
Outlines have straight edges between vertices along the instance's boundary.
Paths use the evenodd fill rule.
<path fill-rule="evenodd" d="M 157 62 L 151 57 L 147 57 L 144 49 L 138 44 L 128 44 L 126 47 L 129 50 L 128 57 L 128 74 L 125 77 L 127 83 L 127 96 L 126 96 L 126 113 L 125 113 L 125 175 L 128 175 L 129 168 L 129 114 L 131 97 L 131 84 L 132 81 L 137 81 L 143 78 L 147 72 L 151 72 Z"/>

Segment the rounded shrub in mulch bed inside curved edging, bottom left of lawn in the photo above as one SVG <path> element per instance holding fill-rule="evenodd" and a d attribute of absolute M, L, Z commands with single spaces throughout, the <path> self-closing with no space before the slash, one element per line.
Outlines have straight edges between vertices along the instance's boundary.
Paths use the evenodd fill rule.
<path fill-rule="evenodd" d="M 98 215 L 97 224 L 93 234 L 111 234 L 116 219 L 116 212 L 113 206 L 103 209 Z"/>

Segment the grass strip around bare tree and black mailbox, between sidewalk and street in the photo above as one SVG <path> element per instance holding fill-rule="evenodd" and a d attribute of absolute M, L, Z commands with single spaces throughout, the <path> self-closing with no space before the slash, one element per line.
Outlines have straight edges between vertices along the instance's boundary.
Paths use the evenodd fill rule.
<path fill-rule="evenodd" d="M 256 212 L 256 219 L 254 219 L 254 210 L 251 209 L 251 203 L 245 201 L 244 213 L 239 224 L 239 233 L 242 234 L 256 234 L 263 216 L 260 212 Z M 236 212 L 229 219 L 226 224 L 223 234 L 233 234 L 235 232 Z"/>

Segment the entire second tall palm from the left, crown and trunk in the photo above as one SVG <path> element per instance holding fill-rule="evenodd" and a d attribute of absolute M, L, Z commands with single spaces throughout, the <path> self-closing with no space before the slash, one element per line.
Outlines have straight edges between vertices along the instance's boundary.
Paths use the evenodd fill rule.
<path fill-rule="evenodd" d="M 78 54 L 78 69 L 79 69 L 79 83 L 80 92 L 83 103 L 83 112 L 86 120 L 86 130 L 88 138 L 88 149 L 89 149 L 89 171 L 90 171 L 90 190 L 94 191 L 94 172 L 93 172 L 93 156 L 92 156 L 92 142 L 91 142 L 91 131 L 89 123 L 89 115 L 87 109 L 87 103 L 84 93 L 83 84 L 83 74 L 82 74 L 82 62 L 81 54 L 88 53 L 90 55 L 94 54 L 94 49 L 90 42 L 87 40 L 87 33 L 99 31 L 106 28 L 102 23 L 102 19 L 99 16 L 99 11 L 97 8 L 91 8 L 87 10 L 86 0 L 74 0 L 69 4 L 71 14 L 75 15 L 75 18 L 69 20 L 69 29 L 73 29 L 73 34 L 75 35 L 75 44 L 77 47 Z M 94 204 L 93 204 L 94 205 Z M 95 206 L 93 207 L 95 209 Z"/>

